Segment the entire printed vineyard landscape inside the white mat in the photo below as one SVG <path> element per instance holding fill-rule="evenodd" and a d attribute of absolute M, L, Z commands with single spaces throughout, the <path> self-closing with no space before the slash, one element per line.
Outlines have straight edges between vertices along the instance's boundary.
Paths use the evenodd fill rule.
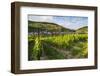
<path fill-rule="evenodd" d="M 29 61 L 87 57 L 87 17 L 29 15 Z"/>

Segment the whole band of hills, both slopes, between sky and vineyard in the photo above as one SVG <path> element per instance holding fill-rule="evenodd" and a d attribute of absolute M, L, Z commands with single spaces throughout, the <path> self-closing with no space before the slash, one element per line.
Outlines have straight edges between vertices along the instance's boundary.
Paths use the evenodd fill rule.
<path fill-rule="evenodd" d="M 81 27 L 77 30 L 72 30 L 69 28 L 65 28 L 61 25 L 58 25 L 56 23 L 50 23 L 50 22 L 36 22 L 36 21 L 28 21 L 28 32 L 38 32 L 38 33 L 88 33 L 88 27 Z"/>

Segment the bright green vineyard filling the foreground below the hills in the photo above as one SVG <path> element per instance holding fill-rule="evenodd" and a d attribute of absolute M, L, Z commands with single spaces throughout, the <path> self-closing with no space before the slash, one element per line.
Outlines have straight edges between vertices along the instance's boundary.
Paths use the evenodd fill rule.
<path fill-rule="evenodd" d="M 88 56 L 87 34 L 29 35 L 28 59 L 75 59 Z"/>

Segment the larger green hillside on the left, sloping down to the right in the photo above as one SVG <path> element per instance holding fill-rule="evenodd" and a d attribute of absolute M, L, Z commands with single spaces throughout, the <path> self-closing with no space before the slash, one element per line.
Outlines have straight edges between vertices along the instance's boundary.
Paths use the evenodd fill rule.
<path fill-rule="evenodd" d="M 50 22 L 28 21 L 29 32 L 47 31 L 47 32 L 74 32 L 74 30 L 65 28 L 61 25 Z"/>

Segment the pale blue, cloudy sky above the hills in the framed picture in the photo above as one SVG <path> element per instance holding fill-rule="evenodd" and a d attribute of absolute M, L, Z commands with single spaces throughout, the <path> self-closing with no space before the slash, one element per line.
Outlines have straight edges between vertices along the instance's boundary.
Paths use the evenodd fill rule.
<path fill-rule="evenodd" d="M 88 26 L 88 17 L 81 16 L 42 16 L 28 15 L 28 20 L 37 22 L 51 22 L 69 29 L 78 29 Z"/>

